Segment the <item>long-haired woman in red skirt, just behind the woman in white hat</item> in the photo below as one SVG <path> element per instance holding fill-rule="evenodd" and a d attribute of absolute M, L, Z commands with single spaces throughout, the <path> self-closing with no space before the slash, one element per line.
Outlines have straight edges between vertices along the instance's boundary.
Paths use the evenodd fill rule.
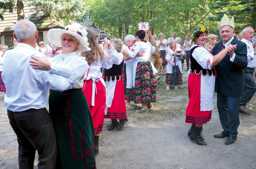
<path fill-rule="evenodd" d="M 108 52 L 108 43 L 105 42 L 104 48 L 98 44 L 93 32 L 86 29 L 91 50 L 81 52 L 81 56 L 86 58 L 89 70 L 84 77 L 82 91 L 88 101 L 91 117 L 93 118 L 95 136 L 95 154 L 99 153 L 99 136 L 102 132 L 104 123 L 104 112 L 106 111 L 106 86 L 100 71 L 100 67 L 109 69 L 112 67 L 112 60 Z"/>

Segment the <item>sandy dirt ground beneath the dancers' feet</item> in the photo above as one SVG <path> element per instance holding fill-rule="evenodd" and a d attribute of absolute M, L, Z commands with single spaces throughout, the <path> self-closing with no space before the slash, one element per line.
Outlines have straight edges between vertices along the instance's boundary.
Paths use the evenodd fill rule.
<path fill-rule="evenodd" d="M 185 75 L 184 75 L 185 76 Z M 161 77 L 162 78 L 162 77 Z M 185 79 L 183 77 L 183 79 Z M 162 78 L 162 82 L 164 79 Z M 185 82 L 185 80 L 184 80 Z M 179 105 L 168 108 L 169 104 L 187 102 L 184 83 L 178 92 L 181 96 L 162 99 L 165 85 L 157 90 L 159 99 L 147 114 L 127 112 L 128 122 L 120 129 L 108 131 L 111 121 L 105 119 L 100 135 L 99 154 L 96 155 L 98 169 L 254 169 L 256 168 L 256 110 L 251 103 L 251 116 L 240 114 L 238 138 L 234 144 L 225 145 L 226 138 L 217 139 L 213 135 L 223 131 L 216 111 L 216 95 L 212 120 L 203 126 L 205 146 L 190 141 L 185 123 L 186 108 Z M 173 89 L 169 93 L 175 92 Z M 168 94 L 171 95 L 171 94 Z M 185 95 L 185 94 L 184 94 Z M 168 96 L 166 96 L 168 97 Z M 186 99 L 184 100 L 184 97 Z M 18 144 L 0 93 L 0 169 L 18 168 Z M 163 101 L 164 100 L 164 101 Z M 166 104 L 166 105 L 165 105 Z M 138 105 L 139 106 L 139 105 Z M 173 112 L 179 111 L 177 116 Z M 164 111 L 161 115 L 159 112 Z M 168 114 L 172 114 L 168 116 Z M 165 119 L 165 120 L 163 120 Z M 37 155 L 34 168 L 37 168 Z"/>

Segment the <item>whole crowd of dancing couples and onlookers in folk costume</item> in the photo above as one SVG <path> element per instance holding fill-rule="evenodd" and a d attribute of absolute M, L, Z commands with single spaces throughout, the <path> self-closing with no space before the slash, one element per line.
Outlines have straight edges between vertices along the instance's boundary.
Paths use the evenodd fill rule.
<path fill-rule="evenodd" d="M 145 40 L 144 30 L 127 35 L 122 42 L 108 40 L 103 31 L 96 37 L 80 24 L 72 24 L 50 29 L 49 44 L 44 47 L 39 42 L 38 47 L 35 25 L 19 20 L 14 25 L 14 46 L 2 45 L 0 53 L 0 90 L 6 92 L 5 106 L 17 135 L 19 168 L 33 168 L 35 150 L 39 168 L 96 168 L 104 119 L 111 119 L 108 130 L 122 128 L 128 121 L 126 110 L 134 109 L 131 101 L 141 104 L 136 112 L 148 112 L 156 102 L 155 74 L 165 76 L 166 90 L 170 85 L 177 90 L 183 84 L 185 60 L 188 137 L 207 145 L 202 127 L 211 120 L 216 92 L 223 132 L 214 137 L 227 137 L 227 145 L 234 143 L 239 112 L 251 115 L 246 104 L 256 91 L 256 36 L 252 27 L 246 27 L 238 40 L 234 19 L 225 14 L 218 29 L 219 42 L 208 34 L 208 27 L 197 26 L 183 45 L 173 31 L 168 39 L 160 33 L 157 41 L 154 35 L 154 46 Z M 162 59 L 158 71 L 151 61 L 156 48 Z"/>

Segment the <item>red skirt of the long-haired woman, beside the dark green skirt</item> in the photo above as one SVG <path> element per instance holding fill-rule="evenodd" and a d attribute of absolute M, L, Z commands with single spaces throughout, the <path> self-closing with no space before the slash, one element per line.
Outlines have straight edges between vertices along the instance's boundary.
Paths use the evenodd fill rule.
<path fill-rule="evenodd" d="M 86 83 L 85 83 L 86 81 Z M 93 80 L 84 80 L 85 90 L 84 95 L 87 99 L 88 106 L 91 112 L 91 117 L 93 119 L 94 134 L 100 133 L 104 124 L 104 109 L 106 103 L 106 88 L 104 84 L 99 80 L 95 82 L 97 94 L 95 92 L 95 102 L 94 106 L 91 105 L 91 97 L 93 92 Z"/>

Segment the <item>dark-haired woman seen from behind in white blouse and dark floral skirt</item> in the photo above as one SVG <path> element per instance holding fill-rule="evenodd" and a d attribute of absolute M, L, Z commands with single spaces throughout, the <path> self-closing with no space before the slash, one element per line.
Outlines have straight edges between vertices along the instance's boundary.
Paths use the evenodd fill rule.
<path fill-rule="evenodd" d="M 155 52 L 155 47 L 150 42 L 144 41 L 146 32 L 138 30 L 135 33 L 136 43 L 130 50 L 123 49 L 126 55 L 124 60 L 133 59 L 133 91 L 134 103 L 142 104 L 142 108 L 136 112 L 148 112 L 147 105 L 156 102 L 156 84 L 154 74 L 157 72 L 153 63 L 150 61 L 151 53 Z M 143 56 L 136 56 L 143 51 Z"/>

